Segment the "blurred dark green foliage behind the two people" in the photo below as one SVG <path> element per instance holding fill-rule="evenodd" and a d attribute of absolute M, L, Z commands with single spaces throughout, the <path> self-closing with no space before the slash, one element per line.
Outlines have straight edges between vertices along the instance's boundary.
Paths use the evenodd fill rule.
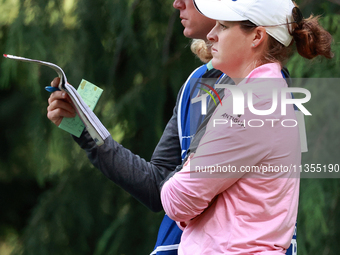
<path fill-rule="evenodd" d="M 340 3 L 298 2 L 322 14 L 333 60 L 287 64 L 293 77 L 339 78 Z M 95 113 L 149 159 L 177 92 L 200 64 L 170 0 L 0 0 L 0 53 L 54 62 L 75 87 L 104 89 Z M 108 181 L 46 118 L 48 68 L 0 59 L 0 254 L 149 254 L 163 213 Z M 340 163 L 339 84 L 312 88 L 304 163 Z M 315 101 L 314 101 L 315 102 Z M 302 179 L 298 253 L 338 254 L 339 179 Z"/>

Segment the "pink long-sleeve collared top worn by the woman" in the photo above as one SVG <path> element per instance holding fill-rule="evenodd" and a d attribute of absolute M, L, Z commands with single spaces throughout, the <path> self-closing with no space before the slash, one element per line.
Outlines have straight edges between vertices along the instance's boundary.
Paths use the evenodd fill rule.
<path fill-rule="evenodd" d="M 272 89 L 287 87 L 280 69 L 266 64 L 240 82 L 245 102 L 251 88 L 254 108 L 270 109 Z M 233 115 L 225 89 L 195 155 L 161 191 L 166 214 L 185 226 L 179 255 L 284 254 L 289 247 L 301 150 L 293 106 L 281 115 L 280 101 L 270 115 L 253 114 L 247 103 Z"/>

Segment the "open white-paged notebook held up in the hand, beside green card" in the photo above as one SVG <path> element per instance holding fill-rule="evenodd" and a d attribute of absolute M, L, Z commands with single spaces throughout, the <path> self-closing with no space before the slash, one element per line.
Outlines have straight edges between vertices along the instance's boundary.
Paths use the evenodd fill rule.
<path fill-rule="evenodd" d="M 60 78 L 60 83 L 58 88 L 62 91 L 65 91 L 71 98 L 73 105 L 78 113 L 79 118 L 84 123 L 87 131 L 91 135 L 92 139 L 96 142 L 97 145 L 104 144 L 104 140 L 110 135 L 109 131 L 104 127 L 104 125 L 100 122 L 98 117 L 93 113 L 90 107 L 84 102 L 81 95 L 77 92 L 77 90 L 67 82 L 66 75 L 64 71 L 57 66 L 56 64 L 40 61 L 36 59 L 23 58 L 13 55 L 3 55 L 5 58 L 14 59 L 23 62 L 36 63 L 39 65 L 44 65 L 55 70 Z M 82 83 L 80 84 L 81 87 Z M 94 106 L 93 106 L 94 107 Z M 61 127 L 62 128 L 62 127 Z M 63 128 L 64 129 L 64 128 Z"/>

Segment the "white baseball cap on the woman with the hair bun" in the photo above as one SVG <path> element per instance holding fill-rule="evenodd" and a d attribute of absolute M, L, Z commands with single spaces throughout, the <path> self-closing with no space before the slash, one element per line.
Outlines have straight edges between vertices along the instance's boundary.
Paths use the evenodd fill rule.
<path fill-rule="evenodd" d="M 194 0 L 195 6 L 204 16 L 223 21 L 249 20 L 266 28 L 268 34 L 285 46 L 293 37 L 287 23 L 294 22 L 291 0 Z"/>

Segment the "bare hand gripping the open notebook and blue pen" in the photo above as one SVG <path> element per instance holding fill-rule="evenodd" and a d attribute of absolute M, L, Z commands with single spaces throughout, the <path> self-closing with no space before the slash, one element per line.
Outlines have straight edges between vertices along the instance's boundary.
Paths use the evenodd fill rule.
<path fill-rule="evenodd" d="M 51 82 L 52 87 L 58 87 L 60 78 L 54 78 Z M 72 105 L 71 98 L 65 91 L 55 91 L 48 99 L 47 118 L 55 125 L 59 126 L 64 117 L 73 118 L 76 116 L 76 111 Z"/>

